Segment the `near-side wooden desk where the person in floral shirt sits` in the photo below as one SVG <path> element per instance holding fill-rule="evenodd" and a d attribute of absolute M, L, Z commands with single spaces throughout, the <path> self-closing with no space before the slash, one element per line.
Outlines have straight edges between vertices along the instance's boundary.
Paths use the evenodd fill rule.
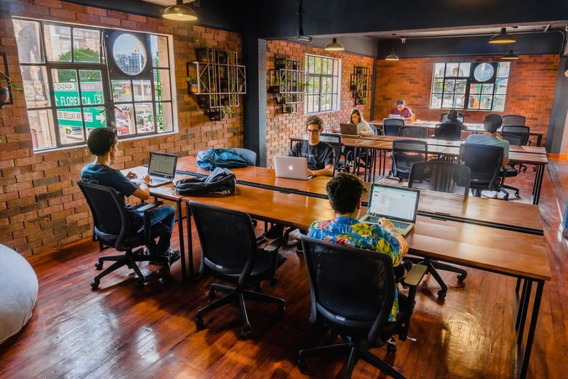
<path fill-rule="evenodd" d="M 239 210 L 257 219 L 303 229 L 308 228 L 313 220 L 334 218 L 326 199 L 245 185 L 237 185 L 236 192 L 229 196 L 206 195 L 186 197 L 186 200 Z M 189 222 L 190 218 L 187 219 Z M 414 230 L 406 239 L 410 253 L 524 280 L 516 326 L 520 356 L 518 376 L 524 378 L 531 356 L 544 282 L 551 279 L 544 237 L 419 216 Z M 190 256 L 190 260 L 193 263 L 193 257 Z M 527 318 L 534 282 L 536 294 L 530 318 Z M 521 353 L 526 322 L 529 322 L 529 328 L 524 353 Z"/>

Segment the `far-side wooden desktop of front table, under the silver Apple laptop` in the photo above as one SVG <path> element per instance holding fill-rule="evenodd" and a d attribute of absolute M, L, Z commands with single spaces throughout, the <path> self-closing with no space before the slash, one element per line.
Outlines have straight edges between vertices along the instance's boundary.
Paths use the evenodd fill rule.
<path fill-rule="evenodd" d="M 194 157 L 178 160 L 178 169 L 188 173 L 208 174 L 199 169 Z M 247 166 L 231 169 L 239 184 L 257 186 L 285 193 L 315 196 L 327 199 L 325 185 L 331 177 L 316 176 L 311 180 L 277 178 L 269 168 Z M 367 190 L 371 184 L 365 183 Z M 369 193 L 362 198 L 366 205 Z M 538 206 L 525 203 L 507 203 L 498 199 L 462 197 L 449 193 L 421 190 L 418 211 L 441 219 L 474 223 L 529 234 L 543 234 L 542 219 Z"/>

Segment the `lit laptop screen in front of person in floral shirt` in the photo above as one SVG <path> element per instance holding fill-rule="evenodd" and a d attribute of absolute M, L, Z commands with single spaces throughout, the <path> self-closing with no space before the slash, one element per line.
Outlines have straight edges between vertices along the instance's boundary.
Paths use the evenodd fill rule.
<path fill-rule="evenodd" d="M 367 213 L 414 222 L 420 192 L 373 184 Z"/>

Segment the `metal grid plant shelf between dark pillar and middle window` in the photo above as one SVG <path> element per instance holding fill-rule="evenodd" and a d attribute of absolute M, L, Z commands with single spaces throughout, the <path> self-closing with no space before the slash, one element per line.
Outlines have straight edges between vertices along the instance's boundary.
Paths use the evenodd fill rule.
<path fill-rule="evenodd" d="M 268 70 L 268 93 L 282 106 L 282 113 L 296 113 L 304 102 L 306 73 L 300 60 L 276 57 L 275 68 Z"/>

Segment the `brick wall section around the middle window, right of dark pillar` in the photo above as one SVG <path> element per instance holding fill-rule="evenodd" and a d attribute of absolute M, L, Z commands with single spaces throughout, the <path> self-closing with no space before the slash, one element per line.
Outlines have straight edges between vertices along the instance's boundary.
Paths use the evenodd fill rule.
<path fill-rule="evenodd" d="M 340 110 L 318 114 L 325 126 L 339 127 L 341 122 L 349 120 L 351 110 L 356 107 L 352 91 L 349 90 L 350 74 L 354 66 L 365 66 L 373 71 L 373 59 L 341 52 L 328 52 L 322 48 L 290 43 L 286 41 L 268 41 L 266 43 L 266 70 L 274 68 L 274 57 L 288 57 L 304 60 L 304 55 L 312 54 L 341 59 Z M 268 84 L 267 84 L 268 85 Z M 369 91 L 369 98 L 371 91 Z M 370 102 L 358 105 L 365 119 L 369 119 Z M 274 155 L 287 155 L 290 149 L 291 135 L 304 134 L 307 116 L 304 115 L 304 105 L 298 105 L 296 114 L 282 113 L 282 106 L 277 104 L 272 94 L 268 94 L 266 104 L 266 163 L 272 167 Z"/>

